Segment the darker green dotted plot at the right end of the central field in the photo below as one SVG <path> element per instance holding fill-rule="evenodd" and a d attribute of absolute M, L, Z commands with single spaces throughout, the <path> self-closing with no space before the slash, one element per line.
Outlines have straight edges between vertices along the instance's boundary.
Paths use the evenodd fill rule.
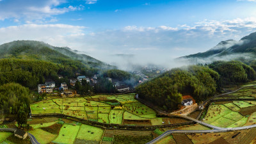
<path fill-rule="evenodd" d="M 138 115 L 145 118 L 156 118 L 156 111 L 148 108 L 140 102 L 134 102 L 131 104 L 125 104 L 123 108 L 134 115 Z"/>

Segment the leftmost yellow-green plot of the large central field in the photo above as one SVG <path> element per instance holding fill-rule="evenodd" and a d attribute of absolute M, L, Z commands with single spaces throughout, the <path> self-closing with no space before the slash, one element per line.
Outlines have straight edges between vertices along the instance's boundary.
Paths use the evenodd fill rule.
<path fill-rule="evenodd" d="M 61 113 L 60 106 L 54 103 L 52 100 L 44 100 L 36 104 L 31 104 L 32 114 L 44 114 L 44 113 Z"/>

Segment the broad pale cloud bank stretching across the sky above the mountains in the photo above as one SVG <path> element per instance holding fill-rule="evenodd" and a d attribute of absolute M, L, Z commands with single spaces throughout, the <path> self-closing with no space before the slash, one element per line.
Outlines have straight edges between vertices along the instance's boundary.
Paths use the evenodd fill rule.
<path fill-rule="evenodd" d="M 54 19 L 53 19 L 54 20 Z M 172 58 L 204 52 L 222 40 L 239 40 L 256 31 L 256 19 L 203 20 L 193 25 L 142 27 L 90 31 L 67 24 L 24 24 L 0 28 L 0 42 L 40 40 L 87 52 L 108 63 L 122 64 L 113 54 L 132 54 L 129 63 L 170 65 Z"/>

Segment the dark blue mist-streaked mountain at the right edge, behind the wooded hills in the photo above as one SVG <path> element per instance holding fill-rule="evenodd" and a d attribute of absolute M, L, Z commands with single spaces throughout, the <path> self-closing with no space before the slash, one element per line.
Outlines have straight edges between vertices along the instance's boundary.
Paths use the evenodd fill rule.
<path fill-rule="evenodd" d="M 248 36 L 244 36 L 241 40 L 226 40 L 220 42 L 218 45 L 209 49 L 206 52 L 199 52 L 197 54 L 191 54 L 188 56 L 183 56 L 180 58 L 183 59 L 202 59 L 202 58 L 210 58 L 210 59 L 218 59 L 218 58 L 228 58 L 228 60 L 232 60 L 237 58 L 237 56 L 231 56 L 236 54 L 237 56 L 256 56 L 256 33 L 251 33 Z M 179 58 L 179 59 L 180 59 Z"/>

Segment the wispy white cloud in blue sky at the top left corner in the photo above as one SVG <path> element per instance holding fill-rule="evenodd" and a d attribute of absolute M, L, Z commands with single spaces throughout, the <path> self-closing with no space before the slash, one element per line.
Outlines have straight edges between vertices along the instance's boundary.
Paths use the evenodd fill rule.
<path fill-rule="evenodd" d="M 33 21 L 50 18 L 52 15 L 83 10 L 84 6 L 61 6 L 67 3 L 65 0 L 9 0 L 0 3 L 0 20 L 4 19 L 24 19 Z"/>

